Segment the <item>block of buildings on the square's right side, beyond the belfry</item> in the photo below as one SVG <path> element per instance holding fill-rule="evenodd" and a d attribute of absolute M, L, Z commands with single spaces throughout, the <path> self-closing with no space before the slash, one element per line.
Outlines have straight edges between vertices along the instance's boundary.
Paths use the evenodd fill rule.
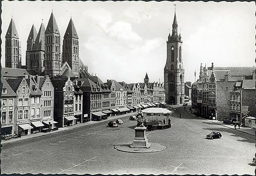
<path fill-rule="evenodd" d="M 245 123 L 255 115 L 255 67 L 200 66 L 192 84 L 192 109 L 201 117 Z"/>

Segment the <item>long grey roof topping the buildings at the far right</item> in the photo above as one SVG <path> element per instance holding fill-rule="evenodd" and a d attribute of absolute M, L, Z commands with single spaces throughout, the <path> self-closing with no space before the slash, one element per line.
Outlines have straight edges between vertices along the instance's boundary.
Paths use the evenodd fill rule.
<path fill-rule="evenodd" d="M 212 67 L 208 67 L 208 70 L 212 70 Z M 253 75 L 255 67 L 214 67 L 214 71 L 217 70 L 226 70 L 230 71 L 232 76 L 241 76 L 241 75 Z"/>

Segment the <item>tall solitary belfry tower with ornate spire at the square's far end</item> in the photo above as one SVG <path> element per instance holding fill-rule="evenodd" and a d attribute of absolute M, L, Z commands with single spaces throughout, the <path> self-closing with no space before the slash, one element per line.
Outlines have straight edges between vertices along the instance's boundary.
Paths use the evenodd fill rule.
<path fill-rule="evenodd" d="M 166 103 L 180 105 L 184 103 L 184 68 L 181 57 L 181 35 L 177 32 L 176 10 L 172 23 L 172 35 L 169 33 L 167 41 L 167 59 L 164 67 L 164 89 L 166 89 Z"/>

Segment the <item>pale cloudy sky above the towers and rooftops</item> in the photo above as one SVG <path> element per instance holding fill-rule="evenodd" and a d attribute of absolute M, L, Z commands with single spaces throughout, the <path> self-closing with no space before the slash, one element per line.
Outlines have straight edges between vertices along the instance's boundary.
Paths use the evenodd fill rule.
<path fill-rule="evenodd" d="M 72 16 L 79 35 L 80 58 L 102 81 L 163 81 L 166 40 L 172 30 L 174 4 L 183 40 L 185 81 L 199 76 L 200 63 L 210 66 L 255 65 L 254 2 L 69 2 L 3 1 L 2 41 L 13 16 L 25 65 L 32 24 L 47 27 L 51 11 L 61 45 Z M 2 56 L 5 55 L 2 43 Z M 61 46 L 62 49 L 62 46 Z M 2 66 L 5 59 L 2 57 Z"/>

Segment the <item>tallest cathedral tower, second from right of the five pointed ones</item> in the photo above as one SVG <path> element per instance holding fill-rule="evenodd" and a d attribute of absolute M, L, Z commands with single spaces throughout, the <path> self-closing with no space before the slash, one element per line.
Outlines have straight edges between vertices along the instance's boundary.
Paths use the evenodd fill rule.
<path fill-rule="evenodd" d="M 46 74 L 61 74 L 61 54 L 60 54 L 60 31 L 53 12 L 49 18 L 45 32 L 45 59 L 44 66 Z"/>

